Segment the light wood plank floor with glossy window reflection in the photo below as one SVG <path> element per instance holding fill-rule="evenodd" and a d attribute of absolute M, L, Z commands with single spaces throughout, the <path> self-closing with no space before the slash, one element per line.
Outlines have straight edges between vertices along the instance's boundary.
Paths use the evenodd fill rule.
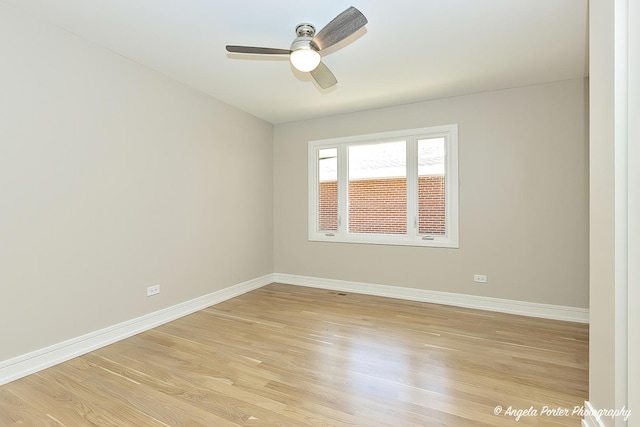
<path fill-rule="evenodd" d="M 0 425 L 579 426 L 540 412 L 587 357 L 587 325 L 272 284 L 0 387 Z"/>

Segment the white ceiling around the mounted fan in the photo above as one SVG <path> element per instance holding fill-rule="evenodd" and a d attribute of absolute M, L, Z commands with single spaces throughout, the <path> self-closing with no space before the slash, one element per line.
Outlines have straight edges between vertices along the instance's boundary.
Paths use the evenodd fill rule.
<path fill-rule="evenodd" d="M 587 0 L 0 0 L 272 123 L 586 76 Z M 349 6 L 322 90 L 286 57 L 295 26 Z"/>

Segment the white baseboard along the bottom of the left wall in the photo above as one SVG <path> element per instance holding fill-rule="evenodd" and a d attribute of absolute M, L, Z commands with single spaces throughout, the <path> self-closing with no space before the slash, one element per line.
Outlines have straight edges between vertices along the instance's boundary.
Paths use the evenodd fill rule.
<path fill-rule="evenodd" d="M 0 385 L 155 328 L 272 282 L 273 275 L 267 274 L 266 276 L 239 283 L 117 325 L 90 332 L 12 359 L 0 361 Z"/>

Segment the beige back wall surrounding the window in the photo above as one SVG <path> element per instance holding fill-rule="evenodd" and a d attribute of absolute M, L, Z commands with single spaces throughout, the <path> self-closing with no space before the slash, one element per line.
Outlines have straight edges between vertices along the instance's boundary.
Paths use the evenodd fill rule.
<path fill-rule="evenodd" d="M 276 273 L 587 307 L 586 93 L 577 79 L 276 125 Z M 451 123 L 460 249 L 307 241 L 307 141 Z"/>

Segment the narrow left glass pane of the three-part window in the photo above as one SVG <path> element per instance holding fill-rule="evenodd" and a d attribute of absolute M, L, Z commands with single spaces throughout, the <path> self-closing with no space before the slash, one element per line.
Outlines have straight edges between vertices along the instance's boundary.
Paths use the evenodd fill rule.
<path fill-rule="evenodd" d="M 338 149 L 318 150 L 318 230 L 338 230 Z"/>

